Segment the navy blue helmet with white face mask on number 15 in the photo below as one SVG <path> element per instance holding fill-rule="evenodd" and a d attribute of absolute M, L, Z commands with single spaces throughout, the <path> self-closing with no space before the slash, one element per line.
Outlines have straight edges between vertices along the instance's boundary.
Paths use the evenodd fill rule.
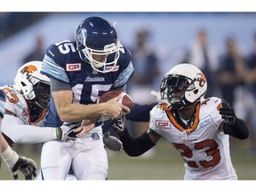
<path fill-rule="evenodd" d="M 76 49 L 80 58 L 100 73 L 108 73 L 115 68 L 119 48 L 116 29 L 108 20 L 90 17 L 76 29 Z"/>

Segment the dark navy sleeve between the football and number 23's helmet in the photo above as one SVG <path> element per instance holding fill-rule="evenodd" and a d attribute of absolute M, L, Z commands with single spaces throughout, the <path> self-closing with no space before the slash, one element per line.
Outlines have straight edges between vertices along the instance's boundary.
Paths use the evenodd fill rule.
<path fill-rule="evenodd" d="M 134 103 L 134 106 L 129 114 L 125 117 L 127 120 L 135 122 L 149 122 L 149 112 L 154 108 L 158 102 L 151 103 L 149 105 L 140 105 Z"/>

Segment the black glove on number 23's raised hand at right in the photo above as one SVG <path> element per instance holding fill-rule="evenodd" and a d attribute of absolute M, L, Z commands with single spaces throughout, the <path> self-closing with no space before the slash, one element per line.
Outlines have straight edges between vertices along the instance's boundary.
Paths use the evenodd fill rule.
<path fill-rule="evenodd" d="M 227 102 L 222 103 L 220 108 L 221 118 L 224 119 L 224 124 L 235 125 L 236 124 L 236 114 L 234 108 L 231 108 Z"/>

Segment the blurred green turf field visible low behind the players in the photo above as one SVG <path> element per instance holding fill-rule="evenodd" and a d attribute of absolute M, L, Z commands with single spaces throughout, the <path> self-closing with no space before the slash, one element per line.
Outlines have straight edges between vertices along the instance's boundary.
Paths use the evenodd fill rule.
<path fill-rule="evenodd" d="M 244 141 L 241 142 L 242 144 L 236 147 L 236 153 L 232 155 L 236 173 L 239 180 L 256 180 L 256 156 L 248 156 L 248 145 Z M 29 153 L 33 149 L 32 146 L 24 145 L 22 147 L 20 153 L 31 156 L 39 165 L 40 148 L 36 153 Z M 38 148 L 38 145 L 35 147 Z M 16 147 L 16 150 L 18 151 L 19 148 Z M 129 157 L 124 151 L 109 150 L 108 156 L 108 180 L 183 180 L 183 160 L 176 149 L 164 140 L 160 140 L 151 156 L 148 157 Z M 19 174 L 19 179 L 24 180 L 21 174 Z M 12 175 L 3 161 L 0 180 L 12 180 Z"/>

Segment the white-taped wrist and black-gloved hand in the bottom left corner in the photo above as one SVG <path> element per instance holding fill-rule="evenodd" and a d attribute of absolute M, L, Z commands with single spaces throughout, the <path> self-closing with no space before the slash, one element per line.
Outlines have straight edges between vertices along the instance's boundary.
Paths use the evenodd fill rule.
<path fill-rule="evenodd" d="M 36 177 L 36 163 L 33 159 L 18 155 L 8 146 L 1 154 L 5 164 L 9 168 L 14 180 L 18 180 L 18 171 L 22 172 L 26 180 Z"/>

